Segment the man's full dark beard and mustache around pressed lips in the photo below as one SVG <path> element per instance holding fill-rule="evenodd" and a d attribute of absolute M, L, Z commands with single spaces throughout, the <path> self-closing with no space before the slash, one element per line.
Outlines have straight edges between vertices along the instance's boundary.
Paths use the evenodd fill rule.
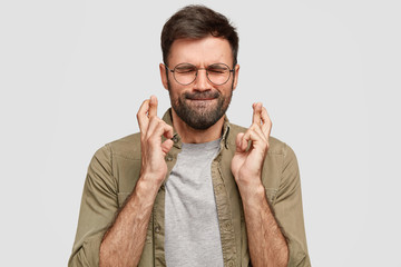
<path fill-rule="evenodd" d="M 174 98 L 169 82 L 168 91 L 172 107 L 177 116 L 189 127 L 197 130 L 205 130 L 215 125 L 225 115 L 233 96 L 233 86 L 227 96 L 223 96 L 218 90 L 208 90 L 202 92 L 184 92 L 177 98 Z M 197 99 L 215 100 L 212 100 L 212 102 L 199 101 L 199 103 L 196 103 Z"/>

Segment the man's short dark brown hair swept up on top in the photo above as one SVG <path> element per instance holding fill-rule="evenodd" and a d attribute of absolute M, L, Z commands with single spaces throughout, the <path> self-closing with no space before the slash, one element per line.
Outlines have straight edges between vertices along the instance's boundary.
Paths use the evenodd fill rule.
<path fill-rule="evenodd" d="M 237 63 L 238 34 L 228 19 L 205 6 L 190 4 L 178 10 L 163 27 L 163 61 L 168 63 L 172 44 L 177 39 L 202 39 L 207 36 L 222 37 L 229 42 L 233 63 Z M 233 67 L 234 67 L 233 66 Z"/>

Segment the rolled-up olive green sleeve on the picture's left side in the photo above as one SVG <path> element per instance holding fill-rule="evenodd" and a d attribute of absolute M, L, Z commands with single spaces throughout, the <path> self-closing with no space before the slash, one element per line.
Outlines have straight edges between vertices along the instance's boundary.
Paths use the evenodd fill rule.
<path fill-rule="evenodd" d="M 96 151 L 88 168 L 69 267 L 99 266 L 100 243 L 117 210 L 117 181 L 106 145 Z"/>

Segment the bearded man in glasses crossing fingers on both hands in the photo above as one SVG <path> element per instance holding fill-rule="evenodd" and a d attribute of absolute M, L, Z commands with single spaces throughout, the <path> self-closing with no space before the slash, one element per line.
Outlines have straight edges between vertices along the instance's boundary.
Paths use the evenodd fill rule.
<path fill-rule="evenodd" d="M 215 11 L 189 6 L 162 32 L 157 98 L 140 132 L 99 149 L 89 166 L 69 266 L 310 266 L 295 155 L 252 126 L 229 123 L 238 37 Z"/>

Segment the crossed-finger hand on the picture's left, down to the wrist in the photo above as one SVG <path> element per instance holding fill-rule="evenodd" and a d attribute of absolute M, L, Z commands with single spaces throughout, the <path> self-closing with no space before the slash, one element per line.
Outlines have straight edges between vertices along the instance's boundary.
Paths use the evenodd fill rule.
<path fill-rule="evenodd" d="M 159 187 L 167 174 L 167 165 L 164 158 L 174 144 L 170 140 L 173 127 L 157 117 L 157 98 L 155 96 L 143 102 L 137 119 L 140 129 L 140 177 Z M 162 136 L 166 137 L 167 140 L 162 142 Z"/>

